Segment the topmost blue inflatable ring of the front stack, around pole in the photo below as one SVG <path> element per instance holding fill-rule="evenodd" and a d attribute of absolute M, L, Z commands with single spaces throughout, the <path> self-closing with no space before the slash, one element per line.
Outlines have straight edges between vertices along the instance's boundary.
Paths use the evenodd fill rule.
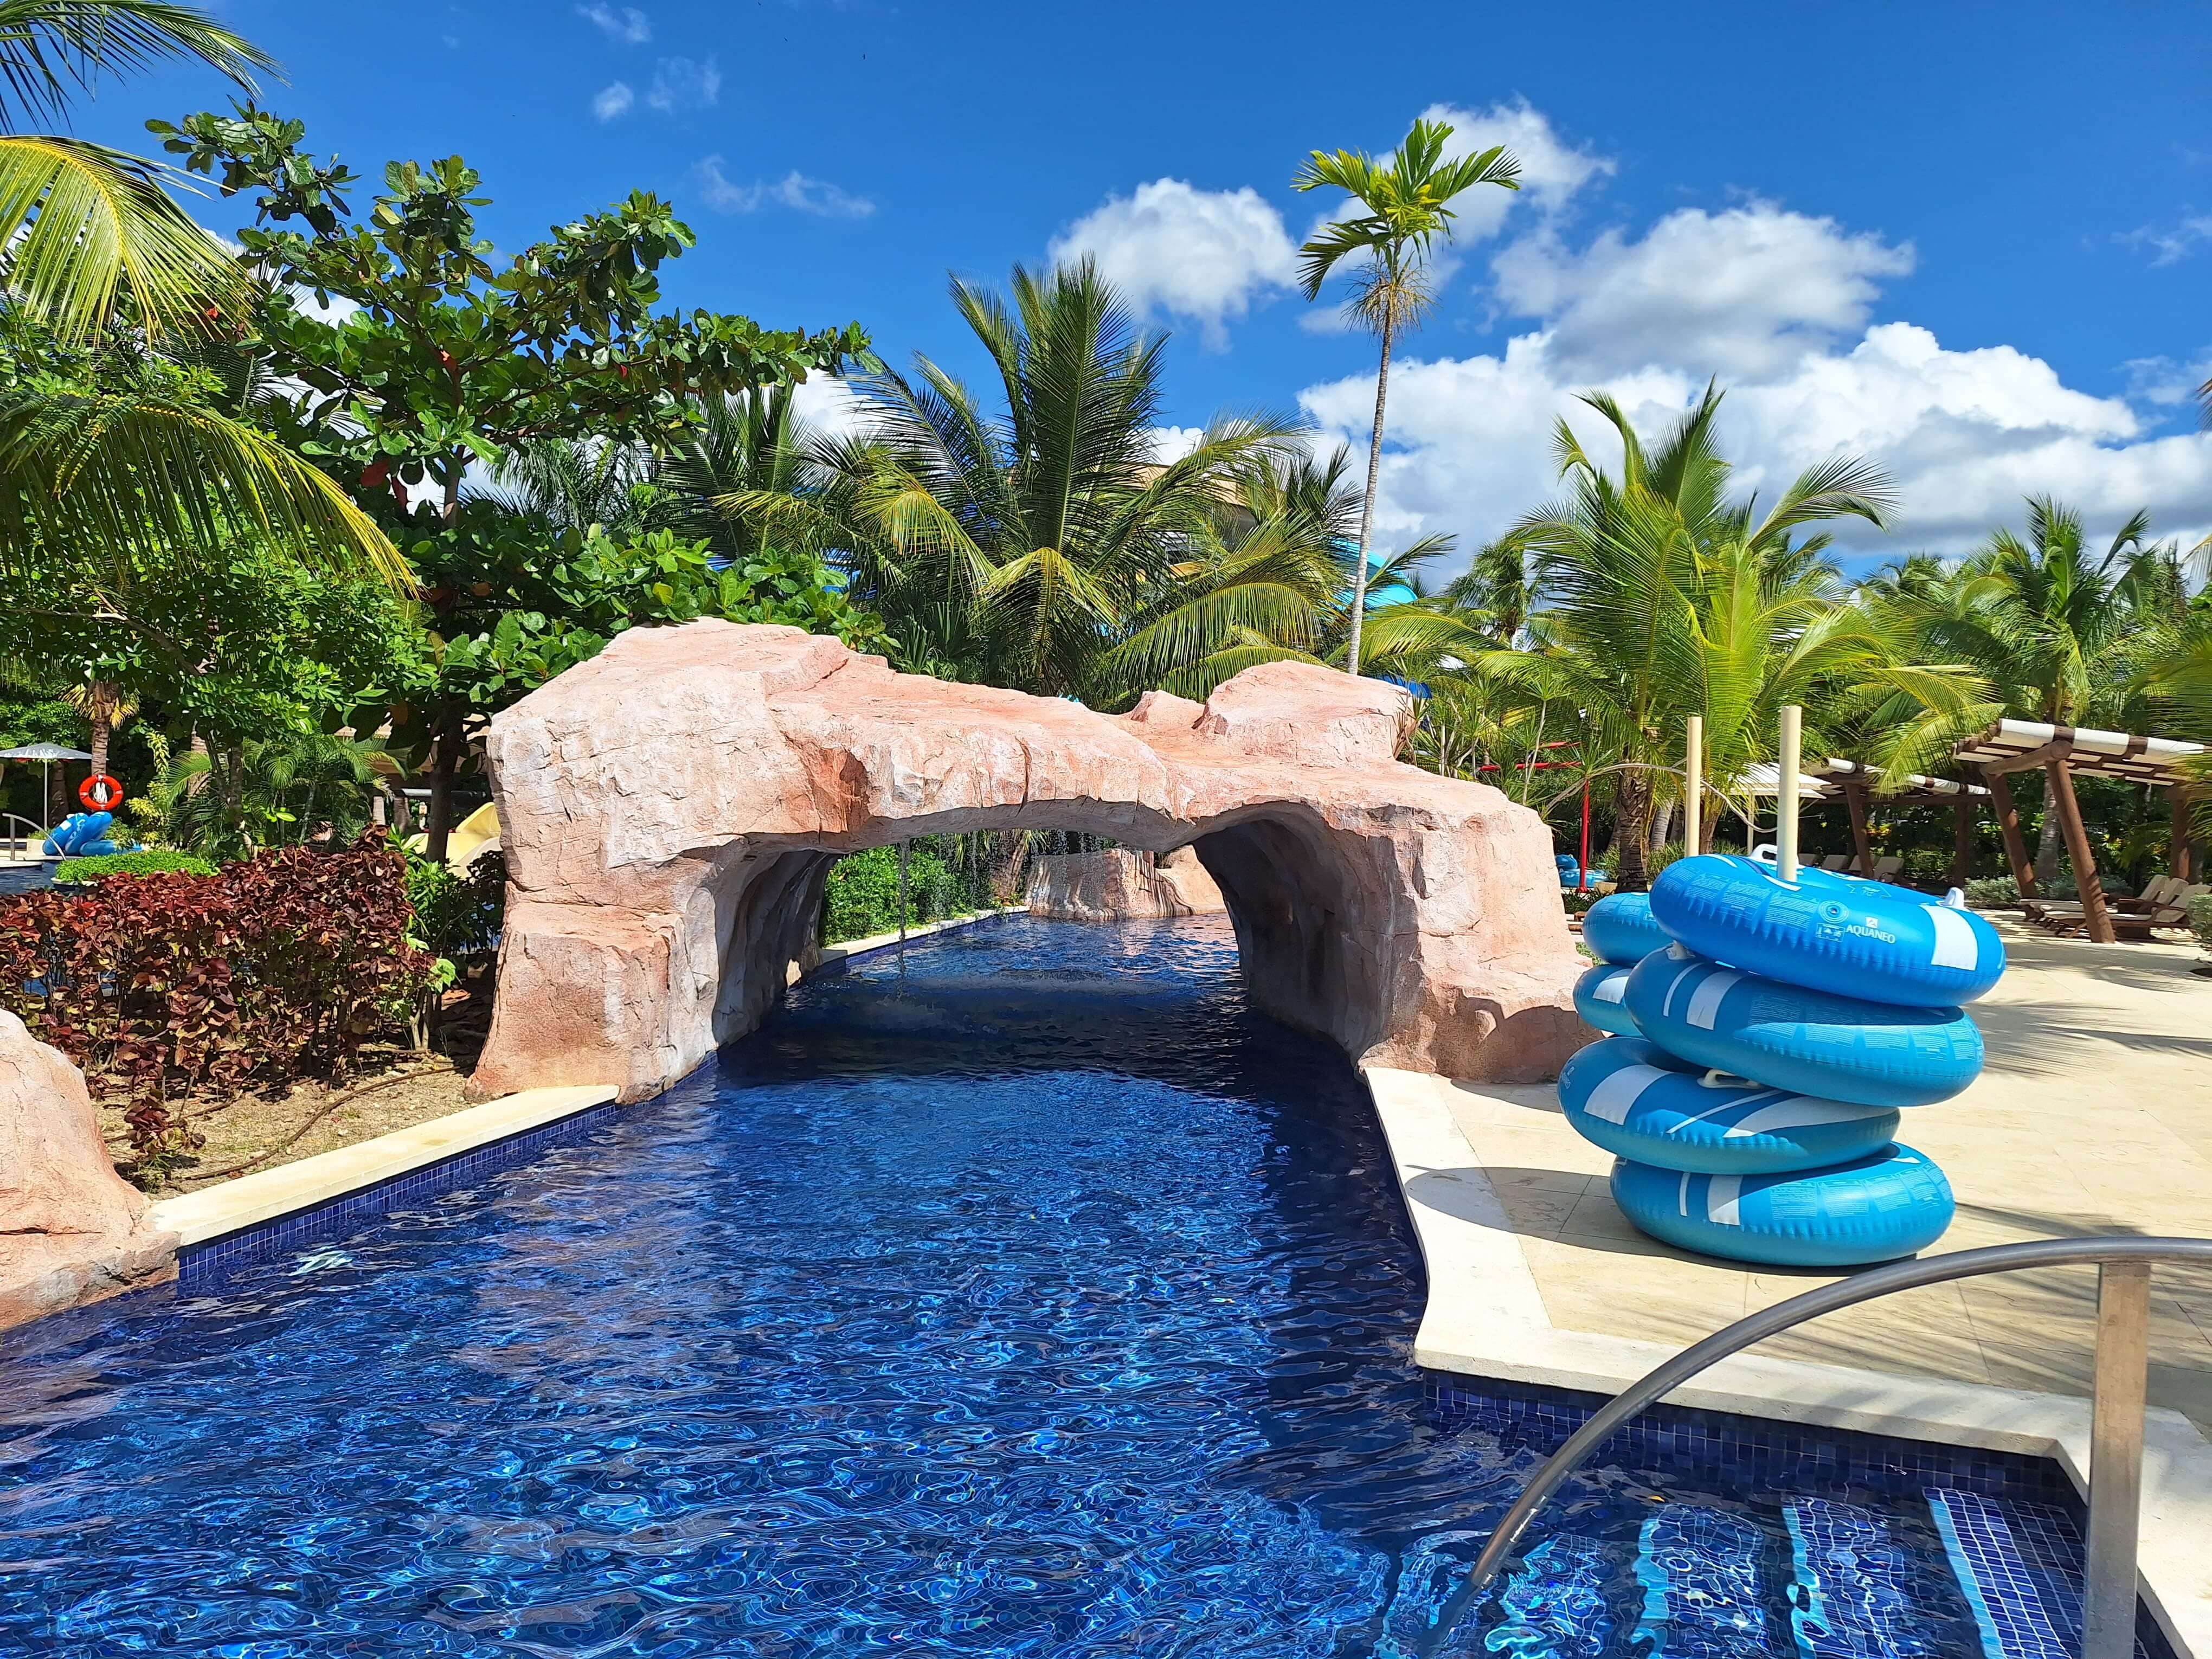
<path fill-rule="evenodd" d="M 1973 911 L 1827 869 L 1798 869 L 1790 885 L 1756 858 L 1677 858 L 1652 883 L 1650 909 L 1699 956 L 1865 1002 L 1955 1006 L 2004 973 L 2004 940 Z"/>

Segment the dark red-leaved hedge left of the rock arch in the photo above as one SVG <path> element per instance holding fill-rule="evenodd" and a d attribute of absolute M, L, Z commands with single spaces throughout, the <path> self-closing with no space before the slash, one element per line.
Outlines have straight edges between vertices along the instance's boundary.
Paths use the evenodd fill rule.
<path fill-rule="evenodd" d="M 0 898 L 0 1006 L 131 1102 L 139 1164 L 184 1150 L 199 1091 L 341 1077 L 405 1029 L 436 958 L 407 942 L 407 867 L 383 830 L 338 854 L 265 852 L 215 876 Z"/>

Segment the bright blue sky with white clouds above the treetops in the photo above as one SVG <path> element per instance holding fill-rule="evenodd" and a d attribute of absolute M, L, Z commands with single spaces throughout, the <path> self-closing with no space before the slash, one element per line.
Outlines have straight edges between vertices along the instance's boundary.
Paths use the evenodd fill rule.
<path fill-rule="evenodd" d="M 1394 374 L 1387 535 L 1502 529 L 1604 385 L 1661 420 L 1717 374 L 1767 491 L 1836 447 L 1898 476 L 1867 555 L 1962 549 L 2051 489 L 2212 531 L 2212 18 L 2201 4 L 447 4 L 230 0 L 265 102 L 374 177 L 462 153 L 515 246 L 630 188 L 699 248 L 670 299 L 858 319 L 980 372 L 947 272 L 1091 250 L 1175 330 L 1168 418 L 1303 409 L 1358 436 L 1371 345 L 1287 285 L 1332 204 L 1312 146 L 1422 111 L 1509 142 Z M 374 15 L 374 24 L 367 18 Z M 146 148 L 208 73 L 111 86 Z M 230 228 L 234 212 L 204 215 Z M 849 418 L 834 398 L 823 418 Z M 1588 422 L 1577 422 L 1588 425 Z M 1172 442 L 1172 438 L 1170 438 Z"/>

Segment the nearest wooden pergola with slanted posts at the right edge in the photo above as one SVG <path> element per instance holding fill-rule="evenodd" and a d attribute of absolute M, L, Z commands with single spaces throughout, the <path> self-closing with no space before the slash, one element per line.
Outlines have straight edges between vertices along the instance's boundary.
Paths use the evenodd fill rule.
<path fill-rule="evenodd" d="M 2088 830 L 2081 825 L 2081 803 L 2075 799 L 2073 787 L 2075 776 L 2121 779 L 2166 790 L 2172 801 L 2168 869 L 2188 880 L 2188 792 L 2192 779 L 2181 770 L 2181 763 L 2203 752 L 2203 743 L 2183 743 L 2170 737 L 2088 732 L 2073 726 L 2044 726 L 2039 721 L 1997 721 L 1980 737 L 1971 737 L 1951 750 L 1960 765 L 1975 768 L 1989 783 L 1991 801 L 1997 807 L 1997 830 L 2004 832 L 2004 856 L 2013 865 L 2013 880 L 2022 898 L 2035 898 L 2035 860 L 2028 858 L 2026 836 L 2020 834 L 2020 812 L 2013 807 L 2013 787 L 2006 783 L 2006 776 L 2033 768 L 2044 770 L 2044 779 L 2051 785 L 2051 810 L 2059 814 L 2059 834 L 2066 836 L 2066 856 L 2073 860 L 2075 885 L 2081 891 L 2081 918 L 2088 936 L 2099 945 L 2110 945 L 2117 933 L 2112 931 L 2112 916 L 2104 905 L 2104 887 L 2097 883 L 2097 860 L 2088 847 Z"/>

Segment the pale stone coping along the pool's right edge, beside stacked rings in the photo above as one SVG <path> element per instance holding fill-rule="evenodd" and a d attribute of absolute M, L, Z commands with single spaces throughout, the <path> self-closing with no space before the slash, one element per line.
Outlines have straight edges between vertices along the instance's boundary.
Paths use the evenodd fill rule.
<path fill-rule="evenodd" d="M 1433 1371 L 1619 1394 L 1679 1349 L 1559 1329 L 1482 1159 L 1451 1115 L 1449 1077 L 1363 1066 L 1427 1265 L 1413 1360 Z M 1672 1405 L 2051 1458 L 2088 1491 L 2090 1405 L 1973 1383 L 1736 1354 Z M 2212 1659 L 2212 1444 L 2179 1411 L 2143 1420 L 2141 1597 L 2181 1659 Z"/>

